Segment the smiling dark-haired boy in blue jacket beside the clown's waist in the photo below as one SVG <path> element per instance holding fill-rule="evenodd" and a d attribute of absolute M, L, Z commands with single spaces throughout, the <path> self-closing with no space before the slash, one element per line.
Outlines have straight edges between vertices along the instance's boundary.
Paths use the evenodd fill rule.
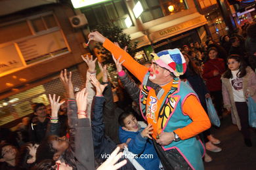
<path fill-rule="evenodd" d="M 159 169 L 160 160 L 150 140 L 152 124 L 148 124 L 146 128 L 140 127 L 135 115 L 131 112 L 120 114 L 118 122 L 120 124 L 119 140 L 121 143 L 128 143 L 128 150 L 136 155 L 135 160 L 144 169 Z"/>

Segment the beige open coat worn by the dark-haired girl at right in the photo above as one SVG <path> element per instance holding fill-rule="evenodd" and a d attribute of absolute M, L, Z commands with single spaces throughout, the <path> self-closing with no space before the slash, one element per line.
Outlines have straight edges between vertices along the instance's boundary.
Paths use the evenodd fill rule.
<path fill-rule="evenodd" d="M 250 67 L 246 68 L 246 75 L 243 77 L 243 92 L 245 97 L 245 92 L 249 92 L 251 97 L 256 101 L 256 75 Z M 238 116 L 238 111 L 236 110 L 236 105 L 234 101 L 234 95 L 232 90 L 232 85 L 230 83 L 230 78 L 221 77 L 223 81 L 223 102 L 224 107 L 231 108 L 232 122 L 241 129 L 240 118 Z M 246 99 L 246 97 L 245 97 Z"/>

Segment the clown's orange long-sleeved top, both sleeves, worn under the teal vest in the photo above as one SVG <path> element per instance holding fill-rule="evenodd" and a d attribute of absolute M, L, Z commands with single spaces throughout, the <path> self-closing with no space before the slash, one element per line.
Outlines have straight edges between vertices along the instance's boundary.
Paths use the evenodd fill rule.
<path fill-rule="evenodd" d="M 103 43 L 103 46 L 112 52 L 116 59 L 121 56 L 120 61 L 123 61 L 123 59 L 125 60 L 123 66 L 127 68 L 134 76 L 136 76 L 140 82 L 142 82 L 144 76 L 148 72 L 147 67 L 140 65 L 140 63 L 135 61 L 135 59 L 133 59 L 127 52 L 116 46 L 108 39 L 106 39 L 106 41 Z M 158 105 L 161 106 L 161 102 L 158 102 Z M 187 114 L 192 119 L 192 123 L 188 126 L 175 130 L 175 133 L 177 133 L 182 140 L 194 137 L 195 135 L 198 135 L 198 133 L 201 133 L 202 131 L 205 131 L 211 127 L 211 122 L 209 121 L 205 110 L 200 104 L 200 101 L 198 101 L 194 95 L 190 95 L 188 98 L 186 98 L 184 104 L 182 105 L 182 110 L 184 114 Z M 158 131 L 158 129 L 154 129 L 154 131 Z"/>

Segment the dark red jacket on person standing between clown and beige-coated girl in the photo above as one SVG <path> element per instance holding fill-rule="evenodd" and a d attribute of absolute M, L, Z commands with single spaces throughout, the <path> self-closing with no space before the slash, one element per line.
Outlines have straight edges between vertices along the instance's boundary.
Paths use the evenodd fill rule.
<path fill-rule="evenodd" d="M 219 71 L 219 75 L 213 76 L 213 71 Z M 221 75 L 225 71 L 224 60 L 221 58 L 209 59 L 203 66 L 203 78 L 206 80 L 206 86 L 210 92 L 220 91 L 222 89 Z"/>

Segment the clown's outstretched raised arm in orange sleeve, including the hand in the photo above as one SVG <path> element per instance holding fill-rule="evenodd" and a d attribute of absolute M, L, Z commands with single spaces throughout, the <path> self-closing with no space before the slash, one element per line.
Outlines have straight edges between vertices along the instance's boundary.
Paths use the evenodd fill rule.
<path fill-rule="evenodd" d="M 112 54 L 114 54 L 116 59 L 119 58 L 119 56 L 123 56 L 121 59 L 121 61 L 123 61 L 123 59 L 125 60 L 123 66 L 125 66 L 133 75 L 135 75 L 140 80 L 140 82 L 142 82 L 144 75 L 146 75 L 148 71 L 147 67 L 140 65 L 140 63 L 135 61 L 127 52 L 125 52 L 125 50 L 119 48 L 119 46 L 116 46 L 116 44 L 111 42 L 109 39 L 106 39 L 106 37 L 98 33 L 98 31 L 90 33 L 89 40 L 102 42 L 103 46 Z"/>

